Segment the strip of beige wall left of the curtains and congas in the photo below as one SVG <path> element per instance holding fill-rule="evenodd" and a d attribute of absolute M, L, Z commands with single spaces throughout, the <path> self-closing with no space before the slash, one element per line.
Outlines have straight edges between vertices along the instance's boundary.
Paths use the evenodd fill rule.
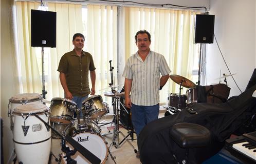
<path fill-rule="evenodd" d="M 1 118 L 4 120 L 3 126 L 3 149 L 4 163 L 8 163 L 13 150 L 12 133 L 10 131 L 10 117 L 7 117 L 9 98 L 19 93 L 15 65 L 15 50 L 12 30 L 12 10 L 13 0 L 1 0 Z"/>

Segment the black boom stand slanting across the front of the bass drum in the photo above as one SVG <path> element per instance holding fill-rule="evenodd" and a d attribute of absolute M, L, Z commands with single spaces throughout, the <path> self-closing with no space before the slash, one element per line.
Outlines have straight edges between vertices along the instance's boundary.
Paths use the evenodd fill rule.
<path fill-rule="evenodd" d="M 54 131 L 54 133 L 56 133 L 57 135 L 59 135 L 62 140 L 61 140 L 61 144 L 62 144 L 62 148 L 61 150 L 66 153 L 66 157 L 67 157 L 67 164 L 76 164 L 77 161 L 74 159 L 71 159 L 71 155 L 74 155 L 77 151 L 79 151 L 86 159 L 88 159 L 91 163 L 95 163 L 95 164 L 99 164 L 101 162 L 101 160 L 95 156 L 93 153 L 91 153 L 90 151 L 88 151 L 86 148 L 84 148 L 82 145 L 80 145 L 75 139 L 73 139 L 70 136 L 63 136 L 61 135 L 57 130 L 55 130 L 54 128 L 52 128 L 47 122 L 45 122 L 41 117 L 39 117 L 37 114 L 34 114 L 34 116 L 38 119 L 40 119 L 42 122 L 44 122 L 46 128 L 50 128 L 51 130 Z M 65 145 L 65 141 L 69 142 L 69 144 L 74 147 L 74 150 L 70 150 L 69 147 L 66 147 Z"/>

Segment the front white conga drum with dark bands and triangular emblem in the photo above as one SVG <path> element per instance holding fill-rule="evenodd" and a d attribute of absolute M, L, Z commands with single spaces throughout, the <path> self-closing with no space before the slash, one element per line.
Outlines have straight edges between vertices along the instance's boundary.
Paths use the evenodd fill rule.
<path fill-rule="evenodd" d="M 13 142 L 17 160 L 22 163 L 48 163 L 51 148 L 51 129 L 39 115 L 50 123 L 49 108 L 44 104 L 26 104 L 14 108 Z"/>

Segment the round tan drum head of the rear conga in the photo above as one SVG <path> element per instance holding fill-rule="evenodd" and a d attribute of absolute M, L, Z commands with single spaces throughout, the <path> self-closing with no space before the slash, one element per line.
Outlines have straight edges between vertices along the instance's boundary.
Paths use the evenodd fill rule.
<path fill-rule="evenodd" d="M 10 99 L 10 103 L 17 103 L 20 104 L 21 101 L 34 101 L 38 100 L 42 97 L 41 94 L 39 93 L 22 93 L 22 94 L 17 94 L 15 96 L 12 96 Z"/>

